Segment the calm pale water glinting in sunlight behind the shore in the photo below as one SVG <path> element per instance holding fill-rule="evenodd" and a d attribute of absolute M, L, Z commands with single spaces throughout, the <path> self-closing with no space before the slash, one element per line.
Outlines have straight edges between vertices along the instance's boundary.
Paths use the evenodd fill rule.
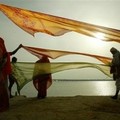
<path fill-rule="evenodd" d="M 15 86 L 13 94 L 15 93 Z M 76 95 L 113 95 L 115 93 L 114 81 L 62 81 L 54 80 L 52 86 L 47 91 L 47 96 L 76 96 Z M 36 97 L 37 91 L 32 82 L 28 83 L 22 90 L 21 95 Z"/>

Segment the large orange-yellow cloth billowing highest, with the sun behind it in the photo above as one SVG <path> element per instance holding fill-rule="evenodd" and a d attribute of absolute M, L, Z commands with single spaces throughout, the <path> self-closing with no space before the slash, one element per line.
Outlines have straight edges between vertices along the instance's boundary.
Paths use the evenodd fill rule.
<path fill-rule="evenodd" d="M 83 35 L 98 38 L 103 34 L 102 40 L 120 42 L 120 30 L 93 25 L 81 21 L 71 20 L 41 12 L 0 4 L 0 10 L 17 26 L 31 35 L 38 32 L 53 36 L 63 35 L 74 31 Z"/>

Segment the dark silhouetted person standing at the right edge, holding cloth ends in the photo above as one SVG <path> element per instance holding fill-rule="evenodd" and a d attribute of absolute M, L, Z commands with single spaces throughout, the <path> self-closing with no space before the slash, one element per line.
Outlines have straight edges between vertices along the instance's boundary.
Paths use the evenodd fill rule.
<path fill-rule="evenodd" d="M 113 79 L 116 81 L 116 93 L 112 98 L 117 99 L 120 90 L 120 52 L 114 47 L 110 49 L 110 52 L 113 54 L 110 73 L 113 74 Z"/>

